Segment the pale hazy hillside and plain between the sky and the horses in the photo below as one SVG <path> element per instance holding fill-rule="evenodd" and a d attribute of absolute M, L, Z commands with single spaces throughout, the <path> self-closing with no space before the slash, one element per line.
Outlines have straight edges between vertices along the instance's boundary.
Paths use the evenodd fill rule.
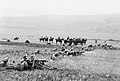
<path fill-rule="evenodd" d="M 1 33 L 115 38 L 120 36 L 120 15 L 39 15 L 1 17 Z M 45 32 L 46 31 L 46 32 Z"/>

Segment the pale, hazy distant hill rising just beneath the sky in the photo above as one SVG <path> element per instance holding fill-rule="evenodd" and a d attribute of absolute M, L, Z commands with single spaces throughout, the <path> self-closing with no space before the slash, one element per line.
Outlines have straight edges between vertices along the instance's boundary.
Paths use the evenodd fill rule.
<path fill-rule="evenodd" d="M 120 14 L 112 15 L 39 15 L 1 17 L 0 27 L 72 31 L 82 33 L 120 34 Z"/>

